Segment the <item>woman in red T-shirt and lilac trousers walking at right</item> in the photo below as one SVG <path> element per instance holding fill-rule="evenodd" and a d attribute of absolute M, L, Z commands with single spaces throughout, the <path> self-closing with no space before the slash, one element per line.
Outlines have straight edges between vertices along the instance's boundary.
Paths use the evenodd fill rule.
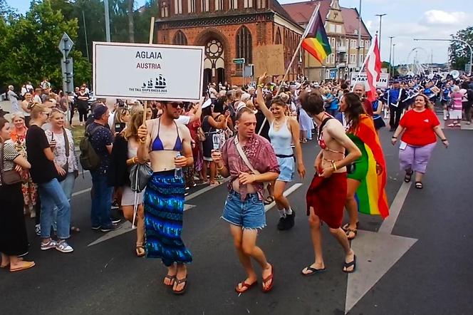
<path fill-rule="evenodd" d="M 435 112 L 430 109 L 427 96 L 420 94 L 415 98 L 414 108 L 407 111 L 401 118 L 391 143 L 395 145 L 397 136 L 402 134 L 399 146 L 399 161 L 401 170 L 405 170 L 405 182 L 410 182 L 415 172 L 415 187 L 422 189 L 422 175 L 425 174 L 432 150 L 437 143 L 438 135 L 445 148 L 448 141 L 445 138 L 440 121 Z"/>

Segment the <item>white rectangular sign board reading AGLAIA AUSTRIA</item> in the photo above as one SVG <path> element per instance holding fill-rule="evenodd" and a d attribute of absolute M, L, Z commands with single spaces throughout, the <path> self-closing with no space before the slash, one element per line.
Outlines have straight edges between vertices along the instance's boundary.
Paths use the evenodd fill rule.
<path fill-rule="evenodd" d="M 198 101 L 204 47 L 93 42 L 95 96 Z"/>

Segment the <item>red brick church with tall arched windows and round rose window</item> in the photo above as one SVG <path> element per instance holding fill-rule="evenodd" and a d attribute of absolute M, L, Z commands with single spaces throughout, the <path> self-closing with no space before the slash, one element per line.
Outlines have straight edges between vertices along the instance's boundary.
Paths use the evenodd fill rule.
<path fill-rule="evenodd" d="M 204 83 L 251 81 L 235 58 L 254 65 L 254 77 L 267 71 L 282 78 L 303 33 L 276 0 L 162 0 L 159 6 L 157 43 L 204 46 Z M 303 71 L 297 58 L 288 79 Z"/>

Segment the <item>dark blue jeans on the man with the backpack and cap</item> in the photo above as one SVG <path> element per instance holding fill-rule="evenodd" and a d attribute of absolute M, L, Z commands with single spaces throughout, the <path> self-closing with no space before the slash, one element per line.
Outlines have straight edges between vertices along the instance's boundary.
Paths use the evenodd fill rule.
<path fill-rule="evenodd" d="M 112 226 L 110 208 L 112 207 L 113 187 L 108 186 L 107 175 L 90 171 L 92 175 L 92 209 L 90 221 L 93 227 L 108 228 Z"/>

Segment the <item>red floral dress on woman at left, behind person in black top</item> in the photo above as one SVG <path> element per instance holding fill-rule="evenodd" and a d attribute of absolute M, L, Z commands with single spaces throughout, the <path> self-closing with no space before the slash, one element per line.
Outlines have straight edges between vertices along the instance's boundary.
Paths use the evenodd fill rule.
<path fill-rule="evenodd" d="M 26 131 L 23 135 L 19 135 L 16 133 L 16 130 L 13 130 L 10 134 L 9 141 L 11 141 L 11 143 L 15 146 L 15 149 L 18 153 L 23 155 L 24 158 L 27 158 Z M 21 184 L 21 191 L 23 192 L 25 208 L 33 210 L 36 206 L 36 200 L 38 200 L 38 185 L 33 182 L 28 170 L 23 170 L 21 172 L 21 177 L 23 178 L 23 184 Z"/>

